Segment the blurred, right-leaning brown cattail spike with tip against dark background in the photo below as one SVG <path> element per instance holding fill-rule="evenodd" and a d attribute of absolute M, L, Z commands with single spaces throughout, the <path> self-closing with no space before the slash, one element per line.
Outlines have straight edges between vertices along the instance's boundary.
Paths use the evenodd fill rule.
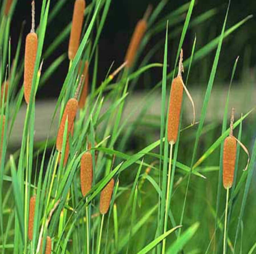
<path fill-rule="evenodd" d="M 127 62 L 127 67 L 130 68 L 133 65 L 134 59 L 137 55 L 138 49 L 140 47 L 140 42 L 148 28 L 148 17 L 151 13 L 152 6 L 149 5 L 147 11 L 145 12 L 142 19 L 140 19 L 135 27 L 132 34 L 132 39 L 130 41 L 129 47 L 126 51 L 125 62 Z"/>

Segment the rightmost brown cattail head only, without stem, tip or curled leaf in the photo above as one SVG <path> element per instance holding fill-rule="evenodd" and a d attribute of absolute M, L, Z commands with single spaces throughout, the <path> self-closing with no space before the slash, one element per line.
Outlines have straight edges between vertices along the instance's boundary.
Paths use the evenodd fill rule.
<path fill-rule="evenodd" d="M 223 186 L 228 189 L 233 184 L 236 162 L 236 139 L 234 136 L 225 138 L 223 149 Z"/>

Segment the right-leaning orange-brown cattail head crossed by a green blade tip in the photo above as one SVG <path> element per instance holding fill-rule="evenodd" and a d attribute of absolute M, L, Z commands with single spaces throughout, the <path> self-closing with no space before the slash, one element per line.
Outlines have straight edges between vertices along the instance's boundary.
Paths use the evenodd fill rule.
<path fill-rule="evenodd" d="M 61 152 L 62 150 L 66 119 L 68 118 L 68 133 L 67 133 L 67 137 L 68 137 L 68 134 L 70 133 L 72 129 L 72 125 L 74 123 L 77 108 L 78 108 L 77 100 L 75 98 L 69 99 L 61 118 L 60 127 L 59 127 L 57 140 L 56 140 L 56 148 L 59 152 Z"/>

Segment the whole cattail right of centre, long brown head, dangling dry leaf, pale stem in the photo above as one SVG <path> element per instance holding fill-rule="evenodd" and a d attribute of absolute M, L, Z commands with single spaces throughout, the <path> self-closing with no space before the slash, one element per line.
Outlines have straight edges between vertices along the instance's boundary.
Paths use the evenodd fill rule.
<path fill-rule="evenodd" d="M 183 99 L 183 90 L 187 93 L 193 107 L 193 123 L 195 123 L 195 106 L 194 102 L 183 83 L 182 72 L 184 72 L 183 67 L 183 50 L 180 51 L 180 62 L 179 62 L 179 71 L 176 78 L 172 81 L 171 92 L 170 92 L 170 101 L 169 101 L 169 110 L 167 117 L 167 139 L 170 144 L 170 157 L 169 157 L 169 169 L 168 169 L 168 180 L 167 180 L 167 191 L 166 191 L 166 203 L 165 203 L 165 217 L 164 217 L 164 233 L 167 229 L 167 220 L 168 220 L 168 204 L 169 204 L 169 192 L 170 192 L 170 180 L 171 180 L 171 161 L 172 161 L 172 147 L 177 141 L 179 125 L 180 125 L 180 112 Z M 163 240 L 162 254 L 165 253 L 165 243 L 166 239 Z"/>

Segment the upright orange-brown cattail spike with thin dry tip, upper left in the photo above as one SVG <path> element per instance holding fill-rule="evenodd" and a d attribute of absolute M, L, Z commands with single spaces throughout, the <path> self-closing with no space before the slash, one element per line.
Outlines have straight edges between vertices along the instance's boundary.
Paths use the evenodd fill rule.
<path fill-rule="evenodd" d="M 25 60 L 24 60 L 24 96 L 29 103 L 32 80 L 36 62 L 37 35 L 35 33 L 35 2 L 32 2 L 32 28 L 26 37 Z"/>

